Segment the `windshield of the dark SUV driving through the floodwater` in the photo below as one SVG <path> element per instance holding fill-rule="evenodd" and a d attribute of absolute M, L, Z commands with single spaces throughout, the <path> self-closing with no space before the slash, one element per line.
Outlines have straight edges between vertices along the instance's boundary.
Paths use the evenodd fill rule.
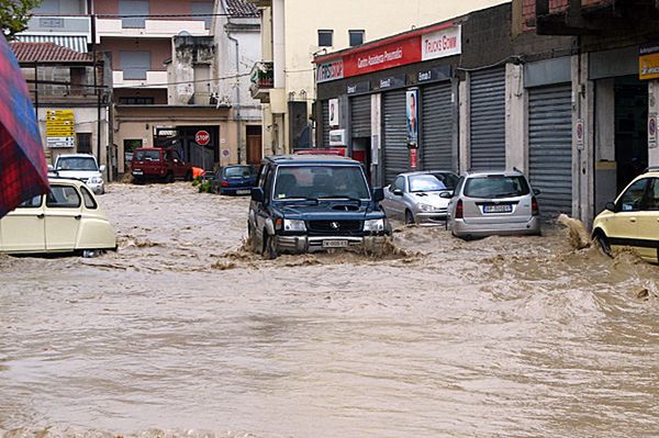
<path fill-rule="evenodd" d="M 272 199 L 358 199 L 370 193 L 358 166 L 281 166 Z"/>

